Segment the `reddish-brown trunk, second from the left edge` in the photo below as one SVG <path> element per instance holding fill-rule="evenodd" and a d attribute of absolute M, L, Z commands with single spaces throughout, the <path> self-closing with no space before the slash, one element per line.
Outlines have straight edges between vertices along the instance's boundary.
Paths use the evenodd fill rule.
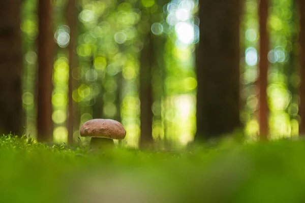
<path fill-rule="evenodd" d="M 49 0 L 40 0 L 38 7 L 38 101 L 37 101 L 37 139 L 39 142 L 52 141 L 52 68 L 53 68 L 53 30 L 52 6 Z"/>

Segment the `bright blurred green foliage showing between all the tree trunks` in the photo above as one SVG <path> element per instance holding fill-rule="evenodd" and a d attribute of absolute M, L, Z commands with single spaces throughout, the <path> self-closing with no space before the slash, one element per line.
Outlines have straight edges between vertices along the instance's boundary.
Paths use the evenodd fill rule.
<path fill-rule="evenodd" d="M 23 107 L 26 129 L 35 130 L 35 78 L 38 35 L 37 1 L 22 4 L 24 77 Z M 258 5 L 245 0 L 241 30 L 241 106 L 240 119 L 249 140 L 259 131 L 256 81 L 258 56 Z M 270 2 L 268 30 L 270 61 L 268 77 L 269 124 L 272 139 L 298 134 L 297 76 L 298 14 L 293 1 Z M 186 145 L 196 131 L 195 47 L 199 39 L 198 0 L 77 1 L 78 29 L 67 26 L 67 1 L 53 1 L 54 41 L 58 45 L 53 72 L 54 140 L 67 141 L 70 31 L 77 32 L 73 72 L 75 89 L 74 138 L 79 126 L 93 117 L 119 119 L 127 129 L 124 144 L 137 147 L 139 121 L 139 54 L 148 32 L 155 35 L 156 64 L 153 73 L 153 136 Z M 71 8 L 69 8 L 71 9 Z M 72 8 L 73 9 L 73 8 Z M 243 54 L 244 53 L 244 54 Z M 101 112 L 100 112 L 101 110 Z M 83 141 L 85 141 L 83 139 Z"/>

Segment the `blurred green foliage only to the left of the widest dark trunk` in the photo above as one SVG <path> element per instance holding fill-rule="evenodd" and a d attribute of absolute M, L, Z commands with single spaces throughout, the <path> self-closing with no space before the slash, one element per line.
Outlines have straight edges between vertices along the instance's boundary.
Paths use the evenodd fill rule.
<path fill-rule="evenodd" d="M 33 137 L 36 134 L 36 4 L 37 1 L 24 1 L 21 26 L 26 44 L 23 104 L 27 133 Z M 79 136 L 79 126 L 94 116 L 119 118 L 127 129 L 126 144 L 137 147 L 140 132 L 139 54 L 147 33 L 151 31 L 158 43 L 154 45 L 158 61 L 153 71 L 154 138 L 164 139 L 166 126 L 167 139 L 182 144 L 191 141 L 195 132 L 197 85 L 194 44 L 198 41 L 198 34 L 194 38 L 192 24 L 199 23 L 195 16 L 198 2 L 78 1 L 75 8 L 78 10 L 78 30 L 70 30 L 66 25 L 65 12 L 71 9 L 66 6 L 67 1 L 53 2 L 54 41 L 58 45 L 53 70 L 54 140 L 67 141 L 69 57 L 66 47 L 70 31 L 76 31 L 78 66 L 72 75 L 76 84 L 73 99 L 78 104 L 75 120 L 79 124 L 74 138 Z"/>

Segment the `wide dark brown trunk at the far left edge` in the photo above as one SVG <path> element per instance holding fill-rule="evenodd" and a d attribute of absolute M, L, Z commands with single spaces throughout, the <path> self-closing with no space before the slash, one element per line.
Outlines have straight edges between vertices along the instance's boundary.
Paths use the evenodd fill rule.
<path fill-rule="evenodd" d="M 0 133 L 22 133 L 21 1 L 0 1 Z"/>

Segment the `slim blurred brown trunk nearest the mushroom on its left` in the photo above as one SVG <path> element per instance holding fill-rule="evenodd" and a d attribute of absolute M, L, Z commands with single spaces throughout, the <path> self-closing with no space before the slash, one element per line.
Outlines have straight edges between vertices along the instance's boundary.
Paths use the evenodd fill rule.
<path fill-rule="evenodd" d="M 73 79 L 73 70 L 76 67 L 76 54 L 74 52 L 76 44 L 76 26 L 77 26 L 77 15 L 75 0 L 69 0 L 67 5 L 67 21 L 70 27 L 70 44 L 68 46 L 69 51 L 69 117 L 68 117 L 68 143 L 73 143 L 73 132 L 74 132 L 74 101 L 72 97 L 74 79 Z"/>

